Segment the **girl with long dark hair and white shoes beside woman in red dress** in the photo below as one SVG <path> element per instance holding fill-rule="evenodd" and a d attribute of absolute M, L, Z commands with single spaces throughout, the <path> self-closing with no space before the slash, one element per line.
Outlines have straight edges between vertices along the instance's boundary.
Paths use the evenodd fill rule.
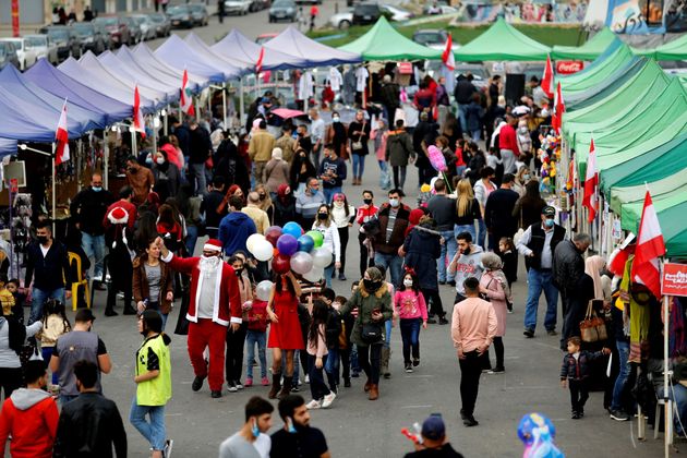
<path fill-rule="evenodd" d="M 332 406 L 336 394 L 324 381 L 323 370 L 327 361 L 326 326 L 329 318 L 328 305 L 317 299 L 313 303 L 313 320 L 308 329 L 308 365 L 310 367 L 310 393 L 313 396 L 308 409 L 326 409 Z"/>

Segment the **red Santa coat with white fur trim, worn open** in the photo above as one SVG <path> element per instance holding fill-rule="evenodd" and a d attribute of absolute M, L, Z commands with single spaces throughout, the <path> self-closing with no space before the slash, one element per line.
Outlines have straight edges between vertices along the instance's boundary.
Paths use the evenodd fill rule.
<path fill-rule="evenodd" d="M 189 313 L 186 318 L 192 323 L 197 323 L 196 302 L 203 291 L 200 257 L 179 257 L 170 253 L 171 257 L 162 261 L 169 264 L 173 270 L 181 272 L 191 276 L 191 300 L 189 301 Z M 201 286 L 198 287 L 198 282 Z M 241 308 L 241 294 L 239 292 L 239 280 L 237 275 L 227 263 L 221 263 L 221 278 L 216 282 L 215 289 L 215 306 L 213 310 L 213 322 L 229 326 L 229 323 L 241 323 L 243 310 Z"/>

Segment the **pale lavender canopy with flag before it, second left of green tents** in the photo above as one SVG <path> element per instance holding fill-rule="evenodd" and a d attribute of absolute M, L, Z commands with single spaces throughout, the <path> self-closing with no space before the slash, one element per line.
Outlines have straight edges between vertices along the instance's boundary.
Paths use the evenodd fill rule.
<path fill-rule="evenodd" d="M 213 52 L 239 60 L 253 70 L 260 57 L 262 46 L 248 39 L 239 31 L 233 28 L 226 37 L 209 48 Z M 304 67 L 305 62 L 303 62 L 303 59 L 275 49 L 265 48 L 263 56 L 264 70 L 302 69 Z"/>

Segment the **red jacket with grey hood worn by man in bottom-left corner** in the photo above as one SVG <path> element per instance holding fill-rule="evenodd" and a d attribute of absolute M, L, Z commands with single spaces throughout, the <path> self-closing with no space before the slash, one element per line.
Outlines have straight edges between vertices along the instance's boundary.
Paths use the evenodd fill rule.
<path fill-rule="evenodd" d="M 40 389 L 20 388 L 5 399 L 0 412 L 0 458 L 12 435 L 12 458 L 50 458 L 59 413 L 55 399 Z"/>

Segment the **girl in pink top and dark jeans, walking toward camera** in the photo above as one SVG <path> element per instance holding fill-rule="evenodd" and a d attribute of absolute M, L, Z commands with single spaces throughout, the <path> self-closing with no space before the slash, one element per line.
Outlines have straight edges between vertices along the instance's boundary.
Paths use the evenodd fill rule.
<path fill-rule="evenodd" d="M 403 364 L 406 372 L 411 373 L 413 367 L 420 365 L 420 325 L 427 328 L 427 305 L 420 291 L 418 276 L 412 269 L 407 269 L 400 289 L 394 294 L 394 311 L 400 323 Z"/>

